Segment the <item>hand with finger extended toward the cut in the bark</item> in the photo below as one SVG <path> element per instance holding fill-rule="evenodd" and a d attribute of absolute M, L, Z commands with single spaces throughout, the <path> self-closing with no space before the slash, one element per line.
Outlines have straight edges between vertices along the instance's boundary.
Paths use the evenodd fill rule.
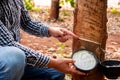
<path fill-rule="evenodd" d="M 58 28 L 58 27 L 49 27 L 49 34 L 55 38 L 57 38 L 60 42 L 65 42 L 69 38 L 78 38 L 73 32 L 64 29 L 64 28 Z"/>

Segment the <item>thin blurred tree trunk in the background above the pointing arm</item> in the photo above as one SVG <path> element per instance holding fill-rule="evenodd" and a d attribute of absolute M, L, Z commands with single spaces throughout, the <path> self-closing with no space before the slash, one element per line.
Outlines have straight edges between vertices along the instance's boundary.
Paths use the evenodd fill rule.
<path fill-rule="evenodd" d="M 50 19 L 56 20 L 59 17 L 59 0 L 51 0 Z"/>

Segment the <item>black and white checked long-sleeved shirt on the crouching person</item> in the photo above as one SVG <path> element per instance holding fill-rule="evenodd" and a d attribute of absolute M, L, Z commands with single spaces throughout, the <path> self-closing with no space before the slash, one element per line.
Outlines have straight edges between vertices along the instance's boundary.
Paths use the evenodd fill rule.
<path fill-rule="evenodd" d="M 23 50 L 29 65 L 47 65 L 50 57 L 20 44 L 20 28 L 36 36 L 49 37 L 48 27 L 30 19 L 22 0 L 0 0 L 0 46 L 15 46 Z"/>

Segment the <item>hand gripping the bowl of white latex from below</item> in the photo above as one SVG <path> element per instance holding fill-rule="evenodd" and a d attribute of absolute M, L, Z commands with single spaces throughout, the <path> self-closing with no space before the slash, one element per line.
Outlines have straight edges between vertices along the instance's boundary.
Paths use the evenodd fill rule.
<path fill-rule="evenodd" d="M 73 66 L 73 63 L 75 61 L 72 59 L 53 59 L 51 58 L 51 61 L 47 65 L 50 68 L 54 68 L 60 72 L 66 73 L 66 74 L 77 74 L 77 75 L 85 75 L 85 73 L 82 73 Z"/>

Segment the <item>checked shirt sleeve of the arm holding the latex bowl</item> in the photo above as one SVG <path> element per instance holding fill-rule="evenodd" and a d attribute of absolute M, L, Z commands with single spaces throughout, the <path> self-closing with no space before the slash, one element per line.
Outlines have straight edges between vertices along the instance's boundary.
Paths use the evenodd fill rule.
<path fill-rule="evenodd" d="M 35 67 L 44 67 L 49 61 L 50 57 L 37 53 L 34 50 L 23 46 L 22 44 L 16 42 L 8 29 L 4 26 L 4 24 L 0 21 L 0 46 L 15 46 L 19 49 L 23 50 L 27 57 L 27 64 L 35 66 Z"/>

